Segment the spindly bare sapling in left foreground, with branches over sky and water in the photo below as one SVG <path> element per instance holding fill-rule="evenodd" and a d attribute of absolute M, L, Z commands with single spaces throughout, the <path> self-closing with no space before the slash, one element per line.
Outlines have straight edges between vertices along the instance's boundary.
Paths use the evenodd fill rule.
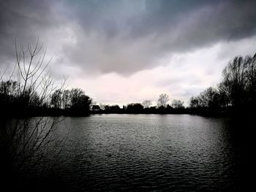
<path fill-rule="evenodd" d="M 15 78 L 15 83 L 12 82 L 13 86 L 10 86 L 14 90 L 9 91 L 23 104 L 18 110 L 25 112 L 20 115 L 26 117 L 12 118 L 6 123 L 7 125 L 1 130 L 1 148 L 4 150 L 4 161 L 7 164 L 14 169 L 27 169 L 47 155 L 49 149 L 45 149 L 56 140 L 53 131 L 63 118 L 31 117 L 29 113 L 26 114 L 30 106 L 39 107 L 45 104 L 56 86 L 50 72 L 46 71 L 50 61 L 46 63 L 44 61 L 46 49 L 42 55 L 40 54 L 42 45 L 39 45 L 39 39 L 34 47 L 28 43 L 26 48 L 23 45 L 18 48 L 15 41 L 15 50 L 17 65 L 11 75 Z M 64 87 L 64 82 L 60 91 Z M 52 149 L 55 150 L 54 147 Z"/>

